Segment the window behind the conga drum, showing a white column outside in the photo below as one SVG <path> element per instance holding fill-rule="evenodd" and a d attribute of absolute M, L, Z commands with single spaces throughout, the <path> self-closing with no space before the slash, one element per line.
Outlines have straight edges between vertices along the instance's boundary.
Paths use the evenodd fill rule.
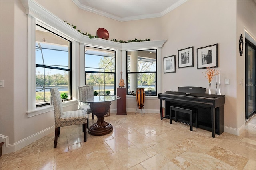
<path fill-rule="evenodd" d="M 127 51 L 127 95 L 145 88 L 145 95 L 156 96 L 156 49 Z M 151 93 L 151 94 L 150 94 Z"/>

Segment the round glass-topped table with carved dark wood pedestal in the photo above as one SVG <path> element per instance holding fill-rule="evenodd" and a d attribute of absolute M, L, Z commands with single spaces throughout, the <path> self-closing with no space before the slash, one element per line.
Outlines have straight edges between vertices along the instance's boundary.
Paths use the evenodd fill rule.
<path fill-rule="evenodd" d="M 111 102 L 120 98 L 119 96 L 107 95 L 94 96 L 94 98 L 87 100 L 92 109 L 92 113 L 97 117 L 97 122 L 88 128 L 89 134 L 100 136 L 112 132 L 113 126 L 104 120 L 104 115 L 108 113 Z"/>

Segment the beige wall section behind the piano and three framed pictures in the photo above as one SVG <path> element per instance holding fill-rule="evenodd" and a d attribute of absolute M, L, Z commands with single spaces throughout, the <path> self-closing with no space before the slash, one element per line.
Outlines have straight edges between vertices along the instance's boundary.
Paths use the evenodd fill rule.
<path fill-rule="evenodd" d="M 168 22 L 169 21 L 169 22 Z M 197 48 L 218 43 L 221 93 L 225 95 L 224 125 L 236 128 L 236 1 L 188 1 L 162 17 L 163 57 L 176 55 L 176 73 L 163 74 L 162 89 L 179 86 L 207 88 L 208 81 L 197 69 Z M 194 67 L 178 68 L 177 50 L 194 48 Z M 230 79 L 225 85 L 224 79 Z M 215 83 L 215 79 L 213 79 Z M 212 86 L 212 93 L 215 87 Z"/>

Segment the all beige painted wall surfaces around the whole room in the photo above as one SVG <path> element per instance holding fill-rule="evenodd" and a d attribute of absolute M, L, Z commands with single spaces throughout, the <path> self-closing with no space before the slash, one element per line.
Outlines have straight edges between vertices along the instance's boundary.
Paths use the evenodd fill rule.
<path fill-rule="evenodd" d="M 176 73 L 162 71 L 162 92 L 186 85 L 207 88 L 204 70 L 197 69 L 196 49 L 218 43 L 217 69 L 221 72 L 222 94 L 226 95 L 225 131 L 239 130 L 244 125 L 244 87 L 238 84 L 238 79 L 244 79 L 244 55 L 239 55 L 238 39 L 244 28 L 256 37 L 254 1 L 187 1 L 161 18 L 129 22 L 80 10 L 72 1 L 40 0 L 38 3 L 62 20 L 76 24 L 82 32 L 96 35 L 96 30 L 103 27 L 110 33 L 110 39 L 167 39 L 162 57 L 178 57 L 179 49 L 193 46 L 194 67 L 178 69 L 176 58 Z M 248 14 L 248 9 L 253 15 Z M 4 80 L 4 87 L 0 88 L 0 134 L 8 137 L 10 145 L 15 145 L 52 127 L 54 114 L 48 112 L 30 118 L 26 115 L 28 54 L 24 7 L 20 1 L 0 1 L 0 17 L 0 79 Z M 230 85 L 224 85 L 224 79 L 230 79 Z M 127 107 L 135 108 L 134 101 L 127 100 Z M 152 98 L 145 102 L 145 109 L 159 109 L 158 104 L 159 100 Z M 115 106 L 113 103 L 112 107 Z"/>

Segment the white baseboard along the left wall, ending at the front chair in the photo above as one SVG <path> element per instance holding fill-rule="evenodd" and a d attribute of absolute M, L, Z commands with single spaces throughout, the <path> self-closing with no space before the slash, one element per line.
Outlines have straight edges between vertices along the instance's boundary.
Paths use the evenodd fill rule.
<path fill-rule="evenodd" d="M 42 130 L 41 132 L 38 132 L 31 136 L 28 136 L 27 138 L 24 138 L 14 144 L 9 143 L 8 136 L 4 136 L 4 135 L 0 134 L 0 141 L 4 142 L 4 145 L 2 146 L 2 154 L 8 154 L 8 153 L 20 150 L 21 148 L 31 144 L 32 142 L 35 142 L 36 140 L 46 136 L 47 134 L 54 132 L 54 129 L 55 129 L 54 126 L 46 128 L 46 129 Z"/>

